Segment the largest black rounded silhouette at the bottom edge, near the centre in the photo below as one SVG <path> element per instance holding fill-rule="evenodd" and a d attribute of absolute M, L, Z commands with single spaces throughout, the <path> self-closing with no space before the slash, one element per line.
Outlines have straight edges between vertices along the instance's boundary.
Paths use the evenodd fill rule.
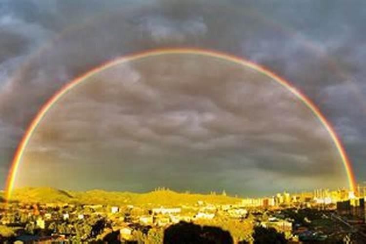
<path fill-rule="evenodd" d="M 180 222 L 164 231 L 164 244 L 233 244 L 228 231 L 219 227 Z"/>

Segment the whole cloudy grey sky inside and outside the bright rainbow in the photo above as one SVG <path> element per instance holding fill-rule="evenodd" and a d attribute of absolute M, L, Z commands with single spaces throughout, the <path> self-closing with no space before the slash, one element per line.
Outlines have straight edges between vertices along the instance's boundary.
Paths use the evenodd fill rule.
<path fill-rule="evenodd" d="M 2 0 L 0 186 L 27 124 L 62 85 L 163 47 L 236 55 L 291 82 L 333 125 L 363 182 L 365 5 Z M 263 195 L 346 183 L 304 105 L 258 72 L 207 57 L 144 59 L 91 78 L 50 110 L 27 149 L 20 186 Z"/>

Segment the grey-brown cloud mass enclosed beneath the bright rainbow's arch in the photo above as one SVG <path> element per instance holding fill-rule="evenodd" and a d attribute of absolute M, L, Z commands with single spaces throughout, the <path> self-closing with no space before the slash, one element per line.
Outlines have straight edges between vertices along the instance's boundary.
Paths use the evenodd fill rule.
<path fill-rule="evenodd" d="M 198 55 L 116 66 L 75 88 L 48 112 L 25 158 L 50 154 L 87 172 L 104 162 L 127 185 L 139 178 L 146 187 L 183 190 L 202 181 L 206 192 L 221 185 L 242 192 L 258 180 L 249 172 L 278 185 L 312 178 L 308 187 L 343 171 L 325 128 L 287 89 L 250 68 Z M 24 167 L 37 168 L 32 160 Z M 240 187 L 225 180 L 234 169 L 246 179 Z M 20 173 L 28 184 L 42 178 L 27 175 Z"/>

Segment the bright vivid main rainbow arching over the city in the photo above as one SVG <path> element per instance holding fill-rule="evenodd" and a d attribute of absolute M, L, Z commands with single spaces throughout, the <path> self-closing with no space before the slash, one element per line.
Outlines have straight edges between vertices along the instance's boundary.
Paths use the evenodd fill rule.
<path fill-rule="evenodd" d="M 140 53 L 135 53 L 127 56 L 123 56 L 120 58 L 117 58 L 113 61 L 108 61 L 106 63 L 103 63 L 102 65 L 88 71 L 81 77 L 67 83 L 64 85 L 57 93 L 55 93 L 47 102 L 45 102 L 42 106 L 40 111 L 37 113 L 36 117 L 32 120 L 32 122 L 27 127 L 27 130 L 24 133 L 24 136 L 22 140 L 20 141 L 18 148 L 15 152 L 7 180 L 5 183 L 5 199 L 9 200 L 11 197 L 12 190 L 14 188 L 15 179 L 17 176 L 17 171 L 24 153 L 24 150 L 32 137 L 33 132 L 36 130 L 37 126 L 43 119 L 43 117 L 46 115 L 47 111 L 56 103 L 58 102 L 61 97 L 63 97 L 67 92 L 72 90 L 74 87 L 82 83 L 83 81 L 86 81 L 89 77 L 106 70 L 108 68 L 111 68 L 115 65 L 133 61 L 141 58 L 146 57 L 154 57 L 154 56 L 160 56 L 160 55 L 166 55 L 166 54 L 195 54 L 195 55 L 204 55 L 209 56 L 213 58 L 219 58 L 227 61 L 232 61 L 241 65 L 244 65 L 246 67 L 252 68 L 260 73 L 262 73 L 265 76 L 268 76 L 272 78 L 274 81 L 278 82 L 282 86 L 284 86 L 288 91 L 290 91 L 293 95 L 295 95 L 300 101 L 302 101 L 305 106 L 307 106 L 311 112 L 319 119 L 319 121 L 324 125 L 325 129 L 329 133 L 332 141 L 334 142 L 340 157 L 342 159 L 342 163 L 344 164 L 349 188 L 351 191 L 355 191 L 357 189 L 356 187 L 356 181 L 355 176 L 353 174 L 352 165 L 347 157 L 346 150 L 344 146 L 342 145 L 340 139 L 338 138 L 335 130 L 331 126 L 331 124 L 326 120 L 325 116 L 321 113 L 319 108 L 311 102 L 310 99 L 308 99 L 305 94 L 301 93 L 298 89 L 296 89 L 292 84 L 290 84 L 288 81 L 285 81 L 281 77 L 277 76 L 273 72 L 269 71 L 268 69 L 255 64 L 250 61 L 246 61 L 244 59 L 241 59 L 239 57 L 235 57 L 233 55 L 228 55 L 224 53 L 220 53 L 217 51 L 210 51 L 210 50 L 203 50 L 203 49 L 196 49 L 196 48 L 166 48 L 166 49 L 156 49 L 156 50 L 150 50 Z"/>

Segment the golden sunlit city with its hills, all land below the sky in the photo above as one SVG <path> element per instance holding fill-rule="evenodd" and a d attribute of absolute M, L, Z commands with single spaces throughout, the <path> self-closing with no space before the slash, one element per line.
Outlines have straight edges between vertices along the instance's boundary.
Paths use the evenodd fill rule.
<path fill-rule="evenodd" d="M 25 188 L 16 190 L 12 201 L 0 203 L 0 209 L 1 241 L 136 240 L 155 244 L 169 240 L 170 229 L 177 227 L 181 227 L 175 231 L 178 238 L 192 238 L 195 233 L 187 233 L 192 226 L 203 228 L 206 237 L 224 230 L 232 240 L 229 243 L 252 243 L 260 239 L 259 230 L 268 240 L 277 233 L 282 243 L 363 243 L 366 238 L 365 195 L 355 197 L 344 190 L 241 199 L 225 192 L 202 195 L 165 188 L 145 194 Z"/>

